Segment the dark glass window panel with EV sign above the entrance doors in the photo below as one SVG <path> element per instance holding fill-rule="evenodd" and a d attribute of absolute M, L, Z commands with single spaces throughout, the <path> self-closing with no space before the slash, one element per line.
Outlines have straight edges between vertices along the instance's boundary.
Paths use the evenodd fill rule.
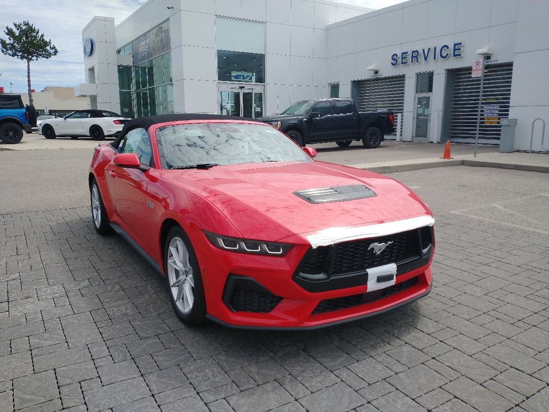
<path fill-rule="evenodd" d="M 217 80 L 265 83 L 265 54 L 218 50 Z"/>

